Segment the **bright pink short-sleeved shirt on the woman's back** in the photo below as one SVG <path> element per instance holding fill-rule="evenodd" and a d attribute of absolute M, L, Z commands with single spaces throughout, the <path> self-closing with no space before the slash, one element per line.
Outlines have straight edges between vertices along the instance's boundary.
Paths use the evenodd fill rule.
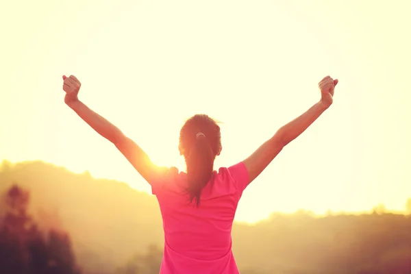
<path fill-rule="evenodd" d="M 232 225 L 238 201 L 249 182 L 240 162 L 214 171 L 201 192 L 199 208 L 184 193 L 187 174 L 175 168 L 152 178 L 163 219 L 164 256 L 160 274 L 237 274 Z"/>

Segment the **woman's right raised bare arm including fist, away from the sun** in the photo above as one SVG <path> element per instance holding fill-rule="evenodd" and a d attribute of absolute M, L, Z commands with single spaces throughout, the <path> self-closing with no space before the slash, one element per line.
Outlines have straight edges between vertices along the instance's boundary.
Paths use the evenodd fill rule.
<path fill-rule="evenodd" d="M 334 80 L 329 76 L 321 80 L 319 82 L 321 101 L 312 105 L 309 110 L 297 119 L 279 128 L 273 137 L 264 142 L 249 158 L 242 161 L 249 173 L 248 183 L 253 182 L 288 143 L 302 134 L 329 108 L 333 101 L 336 84 L 338 84 L 338 80 Z"/>

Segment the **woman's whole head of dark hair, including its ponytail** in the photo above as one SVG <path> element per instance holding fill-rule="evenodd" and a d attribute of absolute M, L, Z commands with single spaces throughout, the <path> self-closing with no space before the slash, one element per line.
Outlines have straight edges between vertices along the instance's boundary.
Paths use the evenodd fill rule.
<path fill-rule="evenodd" d="M 179 136 L 179 148 L 187 166 L 190 203 L 200 204 L 201 190 L 212 179 L 214 159 L 221 151 L 221 132 L 216 121 L 196 114 L 186 121 Z"/>

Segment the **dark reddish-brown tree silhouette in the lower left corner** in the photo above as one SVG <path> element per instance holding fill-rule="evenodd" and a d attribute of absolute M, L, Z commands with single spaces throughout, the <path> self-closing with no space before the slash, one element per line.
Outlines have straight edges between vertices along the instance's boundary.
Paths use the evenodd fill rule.
<path fill-rule="evenodd" d="M 0 222 L 0 273 L 79 274 L 68 234 L 40 232 L 28 214 L 29 192 L 12 186 Z"/>

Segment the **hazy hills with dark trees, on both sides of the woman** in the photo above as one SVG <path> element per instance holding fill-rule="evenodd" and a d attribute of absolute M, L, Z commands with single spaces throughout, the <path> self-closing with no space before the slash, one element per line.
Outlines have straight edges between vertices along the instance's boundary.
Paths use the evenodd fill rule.
<path fill-rule="evenodd" d="M 23 211 L 10 206 L 13 191 L 29 193 L 27 201 L 22 200 Z M 9 231 L 20 231 L 14 239 L 20 239 L 21 249 L 14 253 L 25 253 L 14 256 L 15 262 L 41 259 L 27 259 L 32 258 L 29 247 L 33 240 L 21 239 L 29 238 L 40 242 L 36 247 L 46 254 L 40 260 L 43 264 L 51 261 L 61 265 L 47 256 L 67 254 L 70 263 L 66 269 L 71 272 L 64 273 L 158 273 L 164 238 L 155 197 L 123 182 L 94 179 L 90 173 L 75 174 L 44 162 L 3 162 L 0 193 L 0 258 L 14 250 L 10 245 L 13 238 L 4 232 L 7 220 L 24 216 L 32 228 L 14 225 L 10 230 L 8 225 Z M 411 211 L 411 200 L 407 205 Z M 360 215 L 272 214 L 254 225 L 235 223 L 232 236 L 242 274 L 411 273 L 411 218 L 385 213 L 382 206 Z M 51 244 L 52 239 L 60 245 Z M 5 262 L 10 260 L 0 260 L 0 273 L 8 273 L 2 272 Z M 18 271 L 10 273 L 36 273 Z"/>

